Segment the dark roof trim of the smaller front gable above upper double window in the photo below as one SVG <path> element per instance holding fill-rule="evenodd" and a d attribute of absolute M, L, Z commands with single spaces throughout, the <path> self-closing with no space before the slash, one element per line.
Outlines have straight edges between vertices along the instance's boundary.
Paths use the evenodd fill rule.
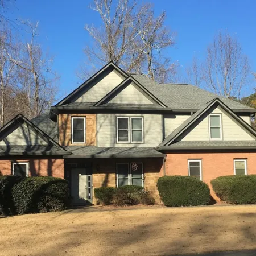
<path fill-rule="evenodd" d="M 125 89 L 128 85 L 130 85 L 133 82 L 133 86 L 141 92 L 148 100 L 150 100 L 153 104 L 166 107 L 166 105 L 163 104 L 162 101 L 160 101 L 157 97 L 154 96 L 149 90 L 144 88 L 143 85 L 141 85 L 137 80 L 135 80 L 133 77 L 128 76 L 124 81 L 122 81 L 117 87 L 115 87 L 111 92 L 106 94 L 103 98 L 101 98 L 100 101 L 98 101 L 94 106 L 100 106 L 102 104 L 106 104 L 109 101 L 111 101 L 115 96 L 117 96 L 120 92 L 122 92 L 123 89 Z"/>

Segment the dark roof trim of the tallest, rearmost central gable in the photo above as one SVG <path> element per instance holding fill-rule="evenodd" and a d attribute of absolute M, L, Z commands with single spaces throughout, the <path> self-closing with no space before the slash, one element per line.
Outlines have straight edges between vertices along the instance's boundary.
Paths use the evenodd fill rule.
<path fill-rule="evenodd" d="M 100 76 L 102 73 L 107 72 L 109 70 L 112 71 L 113 69 L 115 69 L 116 71 L 121 73 L 121 75 L 123 77 L 125 77 L 125 78 L 128 77 L 128 75 L 127 75 L 127 73 L 125 71 L 123 71 L 121 68 L 119 68 L 117 65 L 115 65 L 113 63 L 113 61 L 110 61 L 102 69 L 100 69 L 97 73 L 95 73 L 92 77 L 90 77 L 87 81 L 85 81 L 78 88 L 73 90 L 73 92 L 69 93 L 67 97 L 63 98 L 63 100 L 58 102 L 55 106 L 60 106 L 60 105 L 68 104 L 71 101 L 71 99 L 75 98 L 76 94 L 79 93 L 81 90 L 85 89 L 86 87 L 88 87 L 88 89 L 90 89 L 89 84 L 91 82 L 93 82 L 94 80 L 96 80 L 98 76 Z"/>

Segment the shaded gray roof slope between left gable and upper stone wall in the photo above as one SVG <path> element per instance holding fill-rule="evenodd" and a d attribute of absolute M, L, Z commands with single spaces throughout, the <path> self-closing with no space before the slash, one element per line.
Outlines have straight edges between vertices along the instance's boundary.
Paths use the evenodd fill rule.
<path fill-rule="evenodd" d="M 38 115 L 38 117 L 33 118 L 31 122 L 54 141 L 58 142 L 57 123 L 49 119 L 49 112 Z"/>

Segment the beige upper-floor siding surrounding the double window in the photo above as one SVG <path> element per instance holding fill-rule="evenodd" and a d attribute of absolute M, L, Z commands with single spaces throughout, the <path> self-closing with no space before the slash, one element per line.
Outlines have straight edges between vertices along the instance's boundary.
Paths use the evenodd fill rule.
<path fill-rule="evenodd" d="M 144 143 L 116 143 L 116 117 L 143 117 Z M 155 147 L 162 142 L 162 115 L 97 114 L 98 147 Z"/>

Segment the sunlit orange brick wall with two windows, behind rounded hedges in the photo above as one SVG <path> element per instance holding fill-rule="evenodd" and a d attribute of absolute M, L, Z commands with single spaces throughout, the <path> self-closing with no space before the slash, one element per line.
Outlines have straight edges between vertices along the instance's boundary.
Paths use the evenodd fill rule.
<path fill-rule="evenodd" d="M 203 181 L 209 185 L 214 199 L 219 200 L 210 181 L 219 176 L 234 175 L 235 158 L 247 159 L 247 174 L 256 174 L 256 152 L 214 152 L 167 154 L 166 175 L 188 175 L 188 159 L 201 159 Z"/>

